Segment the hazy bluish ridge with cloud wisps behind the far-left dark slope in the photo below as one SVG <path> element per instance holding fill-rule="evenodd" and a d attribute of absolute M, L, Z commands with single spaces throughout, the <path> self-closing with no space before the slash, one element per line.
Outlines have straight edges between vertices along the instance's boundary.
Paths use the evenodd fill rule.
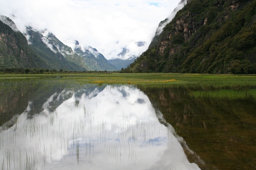
<path fill-rule="evenodd" d="M 78 41 L 75 41 L 74 51 L 71 47 L 63 44 L 53 33 L 48 30 L 39 32 L 33 28 L 27 28 L 28 41 L 35 51 L 47 58 L 47 61 L 59 58 L 67 60 L 69 63 L 75 64 L 75 70 L 91 70 L 91 71 L 115 71 L 114 65 L 111 65 L 105 57 L 95 48 L 87 47 L 82 49 Z M 56 65 L 56 64 L 54 64 Z M 72 70 L 74 70 L 72 65 Z"/>

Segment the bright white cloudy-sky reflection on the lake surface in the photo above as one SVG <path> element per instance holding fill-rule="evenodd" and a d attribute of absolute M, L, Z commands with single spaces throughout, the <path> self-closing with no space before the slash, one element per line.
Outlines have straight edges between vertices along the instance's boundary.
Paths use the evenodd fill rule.
<path fill-rule="evenodd" d="M 0 132 L 3 170 L 199 169 L 187 160 L 173 127 L 160 124 L 162 115 L 135 87 L 56 92 L 28 119 L 32 106 Z"/>

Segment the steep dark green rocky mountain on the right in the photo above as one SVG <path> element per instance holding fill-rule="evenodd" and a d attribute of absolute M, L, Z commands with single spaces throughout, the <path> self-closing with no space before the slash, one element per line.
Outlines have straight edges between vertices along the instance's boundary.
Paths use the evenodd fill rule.
<path fill-rule="evenodd" d="M 256 0 L 188 0 L 125 72 L 256 73 Z"/>

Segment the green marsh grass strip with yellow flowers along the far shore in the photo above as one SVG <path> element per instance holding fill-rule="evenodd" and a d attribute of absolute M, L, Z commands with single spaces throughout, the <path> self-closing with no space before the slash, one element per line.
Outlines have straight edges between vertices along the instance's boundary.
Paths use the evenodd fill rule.
<path fill-rule="evenodd" d="M 80 74 L 3 74 L 0 80 L 7 79 L 54 79 L 60 82 L 79 84 L 128 84 L 128 85 L 186 85 L 189 87 L 243 87 L 256 86 L 256 75 L 224 74 L 182 74 L 182 73 L 80 73 Z M 242 85 L 242 86 L 241 86 Z"/>

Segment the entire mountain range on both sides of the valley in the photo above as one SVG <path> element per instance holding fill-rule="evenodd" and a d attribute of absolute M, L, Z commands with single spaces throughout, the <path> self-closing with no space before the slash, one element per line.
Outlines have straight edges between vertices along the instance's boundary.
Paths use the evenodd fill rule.
<path fill-rule="evenodd" d="M 108 61 L 78 41 L 73 49 L 66 46 L 48 30 L 27 27 L 22 34 L 0 16 L 0 68 L 256 74 L 255 30 L 256 0 L 181 0 L 160 22 L 147 51 Z"/>

